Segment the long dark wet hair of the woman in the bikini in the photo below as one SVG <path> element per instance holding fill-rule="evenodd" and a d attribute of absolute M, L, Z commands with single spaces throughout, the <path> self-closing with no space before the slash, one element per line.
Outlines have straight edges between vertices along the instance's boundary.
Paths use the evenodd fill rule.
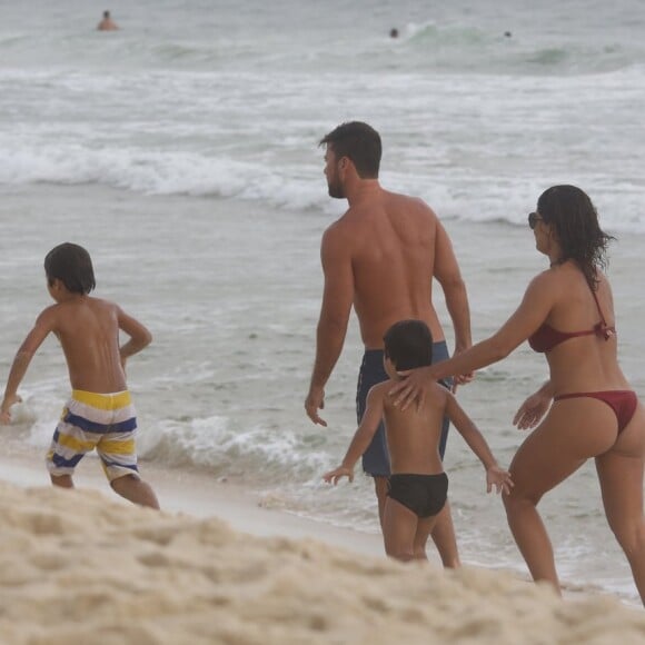
<path fill-rule="evenodd" d="M 552 186 L 539 196 L 537 212 L 557 234 L 563 254 L 559 261 L 574 260 L 596 290 L 596 271 L 607 267 L 607 246 L 616 238 L 601 229 L 589 196 L 575 186 Z"/>

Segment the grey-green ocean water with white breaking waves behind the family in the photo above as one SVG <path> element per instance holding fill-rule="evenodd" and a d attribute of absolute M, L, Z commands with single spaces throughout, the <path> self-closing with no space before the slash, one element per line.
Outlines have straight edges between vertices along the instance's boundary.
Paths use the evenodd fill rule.
<path fill-rule="evenodd" d="M 639 2 L 116 1 L 121 30 L 99 33 L 103 9 L 0 0 L 4 374 L 48 304 L 44 254 L 83 244 L 97 294 L 155 335 L 129 367 L 143 468 L 201 469 L 265 505 L 376 532 L 369 480 L 320 482 L 355 429 L 355 322 L 327 389 L 329 428 L 302 409 L 320 235 L 345 207 L 327 196 L 317 141 L 360 119 L 384 138 L 383 183 L 444 219 L 475 339 L 544 266 L 525 226 L 538 195 L 556 182 L 585 188 L 618 237 L 622 361 L 645 389 Z M 522 439 L 510 418 L 544 377 L 544 363 L 520 348 L 460 393 L 503 463 Z M 37 454 L 68 391 L 53 340 L 21 391 L 2 435 Z M 464 559 L 524 570 L 499 500 L 483 494 L 457 436 L 446 466 Z M 593 465 L 543 507 L 564 580 L 635 602 Z"/>

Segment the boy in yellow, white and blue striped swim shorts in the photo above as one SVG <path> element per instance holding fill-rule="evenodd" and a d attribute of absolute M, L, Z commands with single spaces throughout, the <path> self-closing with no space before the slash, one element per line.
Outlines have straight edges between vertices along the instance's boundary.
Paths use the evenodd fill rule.
<path fill-rule="evenodd" d="M 139 477 L 137 419 L 125 371 L 126 360 L 152 337 L 118 305 L 88 295 L 96 281 L 91 258 L 82 247 L 66 242 L 53 248 L 44 258 L 44 272 L 56 305 L 41 311 L 16 354 L 0 405 L 0 424 L 11 420 L 9 409 L 21 400 L 18 386 L 31 358 L 53 333 L 62 346 L 72 393 L 47 454 L 51 483 L 73 488 L 75 467 L 96 448 L 116 493 L 159 508 L 155 492 Z M 130 337 L 121 347 L 119 330 Z"/>

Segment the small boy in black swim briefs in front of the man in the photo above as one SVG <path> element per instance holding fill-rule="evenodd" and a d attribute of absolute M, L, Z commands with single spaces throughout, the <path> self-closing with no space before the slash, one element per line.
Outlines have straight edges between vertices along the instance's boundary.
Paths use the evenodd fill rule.
<path fill-rule="evenodd" d="M 510 475 L 497 466 L 486 439 L 462 409 L 455 396 L 435 384 L 421 408 L 401 410 L 388 395 L 397 371 L 433 361 L 433 337 L 421 320 L 401 320 L 385 334 L 384 365 L 390 380 L 375 385 L 367 409 L 343 464 L 324 476 L 335 485 L 341 477 L 354 480 L 354 465 L 369 446 L 381 418 L 385 420 L 391 460 L 388 497 L 383 520 L 385 550 L 400 559 L 426 559 L 426 542 L 444 508 L 448 477 L 439 457 L 441 419 L 447 416 L 486 468 L 486 488 L 509 493 Z"/>

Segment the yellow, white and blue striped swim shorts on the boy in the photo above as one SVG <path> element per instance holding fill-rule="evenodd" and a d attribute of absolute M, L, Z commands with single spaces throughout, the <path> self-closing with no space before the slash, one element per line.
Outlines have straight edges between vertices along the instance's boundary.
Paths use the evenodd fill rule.
<path fill-rule="evenodd" d="M 51 475 L 71 475 L 83 456 L 97 449 L 110 482 L 139 478 L 135 434 L 137 417 L 130 393 L 93 394 L 75 389 L 47 454 Z"/>

